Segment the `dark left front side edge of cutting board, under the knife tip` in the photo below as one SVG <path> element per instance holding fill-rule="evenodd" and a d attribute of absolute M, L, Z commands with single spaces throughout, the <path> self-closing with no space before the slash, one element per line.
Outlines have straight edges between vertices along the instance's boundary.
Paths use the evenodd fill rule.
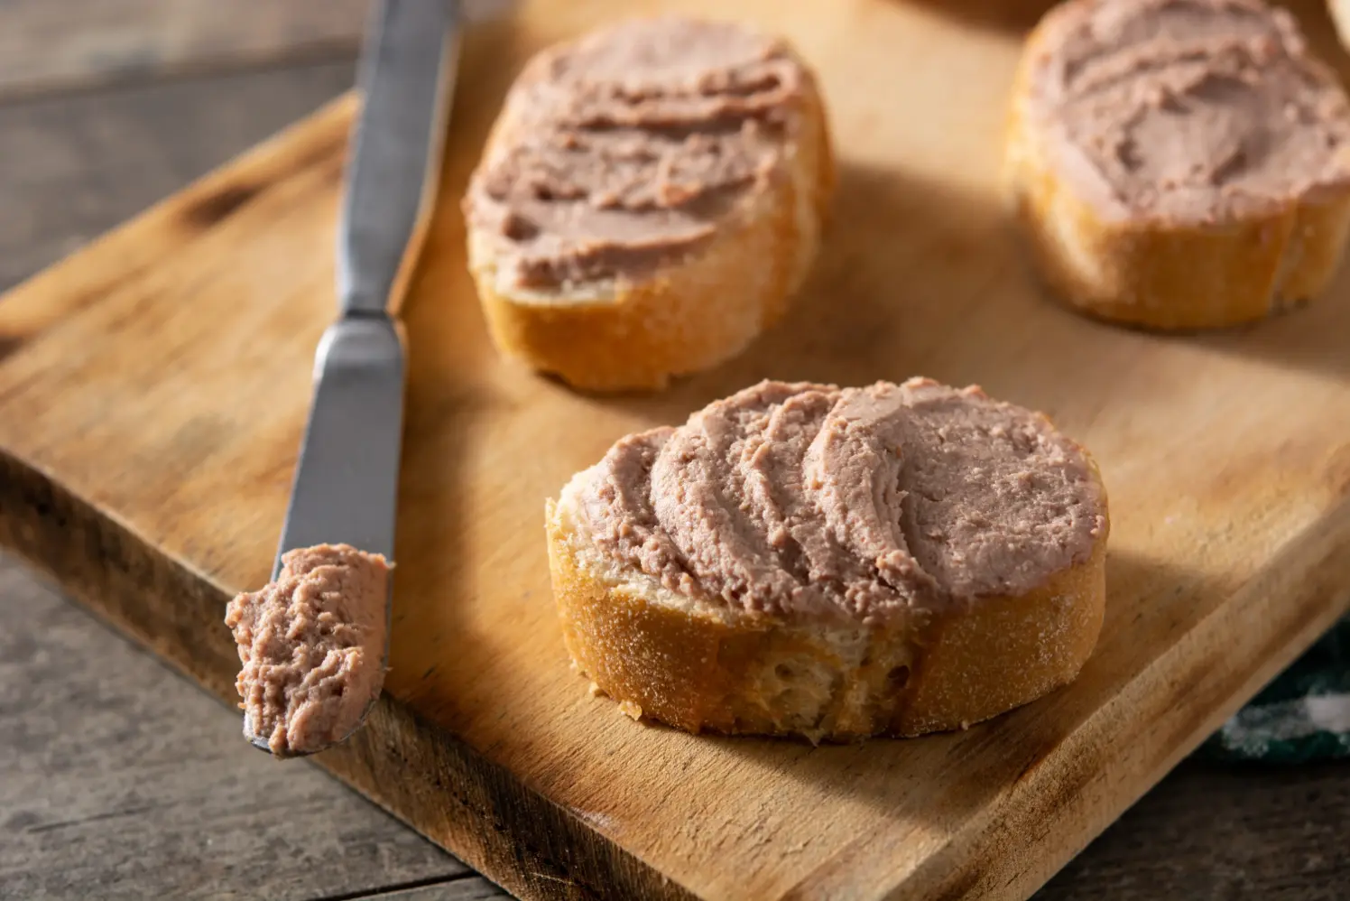
<path fill-rule="evenodd" d="M 235 705 L 239 662 L 223 621 L 228 590 L 4 448 L 0 547 Z M 212 639 L 193 643 L 193 629 Z M 698 897 L 387 694 L 367 728 L 313 762 L 521 898 Z M 510 808 L 506 825 L 497 812 Z"/>

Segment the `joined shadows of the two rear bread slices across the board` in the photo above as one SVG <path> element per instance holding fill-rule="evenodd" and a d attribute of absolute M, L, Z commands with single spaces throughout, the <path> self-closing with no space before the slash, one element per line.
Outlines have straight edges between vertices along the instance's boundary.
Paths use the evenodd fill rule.
<path fill-rule="evenodd" d="M 1350 380 L 1347 317 L 1350 266 L 1318 303 L 1239 330 L 1164 335 L 1096 321 L 1040 285 L 992 192 L 844 162 L 819 258 L 780 323 L 666 392 L 595 401 L 680 423 L 761 378 L 864 385 L 922 374 L 983 385 L 1073 434 L 1172 397 L 1174 381 L 1141 365 L 1160 351 L 1180 361 L 1212 349 Z M 1083 390 L 1065 401 L 1065 384 Z"/>

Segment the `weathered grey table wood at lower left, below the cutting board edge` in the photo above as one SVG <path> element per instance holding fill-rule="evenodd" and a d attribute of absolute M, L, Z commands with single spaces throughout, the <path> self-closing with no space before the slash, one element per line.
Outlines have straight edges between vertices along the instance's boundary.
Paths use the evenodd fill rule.
<path fill-rule="evenodd" d="M 464 873 L 316 767 L 248 748 L 236 716 L 8 555 L 0 723 L 0 897 L 316 898 Z"/>

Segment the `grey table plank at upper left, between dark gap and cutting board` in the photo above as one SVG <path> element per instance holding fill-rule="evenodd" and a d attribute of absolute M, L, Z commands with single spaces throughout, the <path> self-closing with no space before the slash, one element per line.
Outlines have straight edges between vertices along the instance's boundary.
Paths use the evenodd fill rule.
<path fill-rule="evenodd" d="M 352 77 L 348 59 L 0 105 L 0 289 L 290 124 Z"/>

